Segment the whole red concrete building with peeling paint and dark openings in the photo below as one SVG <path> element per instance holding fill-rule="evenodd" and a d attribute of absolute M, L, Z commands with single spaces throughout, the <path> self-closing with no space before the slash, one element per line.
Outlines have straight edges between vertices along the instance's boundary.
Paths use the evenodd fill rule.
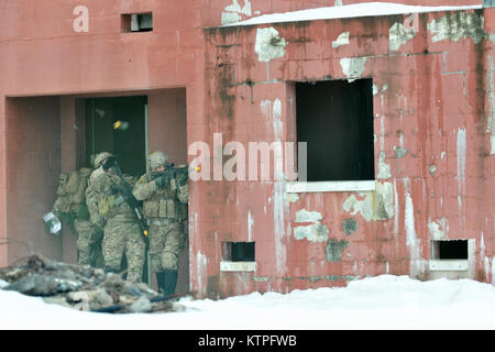
<path fill-rule="evenodd" d="M 495 10 L 360 2 L 0 0 L 0 266 L 75 261 L 61 172 L 163 150 L 200 166 L 182 292 L 493 284 Z"/>

